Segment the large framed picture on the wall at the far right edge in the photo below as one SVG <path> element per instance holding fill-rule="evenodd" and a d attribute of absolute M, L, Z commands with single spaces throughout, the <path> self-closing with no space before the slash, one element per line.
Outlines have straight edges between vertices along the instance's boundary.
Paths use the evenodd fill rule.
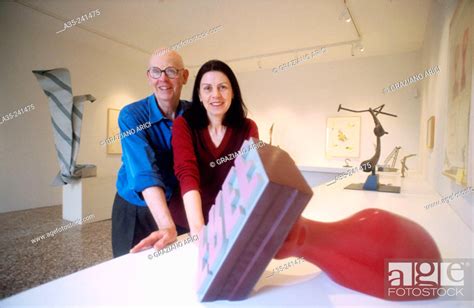
<path fill-rule="evenodd" d="M 449 27 L 448 106 L 443 174 L 467 185 L 471 106 L 473 1 L 461 0 Z M 472 139 L 472 137 L 471 137 Z"/>

